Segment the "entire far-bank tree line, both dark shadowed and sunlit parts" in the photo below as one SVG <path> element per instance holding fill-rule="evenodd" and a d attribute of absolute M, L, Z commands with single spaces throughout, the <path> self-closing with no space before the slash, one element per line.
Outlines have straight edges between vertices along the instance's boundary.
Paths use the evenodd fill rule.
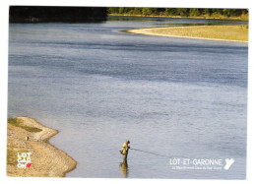
<path fill-rule="evenodd" d="M 97 22 L 107 15 L 247 17 L 247 9 L 10 6 L 10 23 Z"/>

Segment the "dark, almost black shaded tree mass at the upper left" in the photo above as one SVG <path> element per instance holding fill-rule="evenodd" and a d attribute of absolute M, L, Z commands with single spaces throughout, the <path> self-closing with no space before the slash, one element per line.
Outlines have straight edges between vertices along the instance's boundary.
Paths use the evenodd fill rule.
<path fill-rule="evenodd" d="M 106 20 L 101 7 L 10 6 L 11 23 L 97 22 Z"/>

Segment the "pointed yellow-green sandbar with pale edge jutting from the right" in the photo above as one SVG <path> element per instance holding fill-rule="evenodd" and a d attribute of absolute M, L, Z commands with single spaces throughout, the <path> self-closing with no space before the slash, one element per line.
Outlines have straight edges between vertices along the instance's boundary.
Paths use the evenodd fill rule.
<path fill-rule="evenodd" d="M 246 25 L 151 28 L 128 30 L 126 32 L 167 37 L 248 42 L 248 26 Z"/>

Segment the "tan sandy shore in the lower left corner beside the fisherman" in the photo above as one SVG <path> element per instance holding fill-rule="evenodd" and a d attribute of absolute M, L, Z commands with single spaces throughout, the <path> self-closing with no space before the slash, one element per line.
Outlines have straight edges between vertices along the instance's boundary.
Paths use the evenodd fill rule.
<path fill-rule="evenodd" d="M 77 162 L 72 157 L 48 143 L 58 131 L 44 127 L 29 117 L 17 117 L 16 120 L 19 126 L 8 123 L 8 176 L 64 177 L 76 167 Z M 18 153 L 32 153 L 30 167 L 18 168 Z"/>

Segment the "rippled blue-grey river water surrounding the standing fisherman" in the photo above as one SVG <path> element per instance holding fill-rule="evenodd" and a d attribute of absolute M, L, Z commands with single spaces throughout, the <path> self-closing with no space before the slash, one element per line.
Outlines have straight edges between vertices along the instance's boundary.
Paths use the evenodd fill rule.
<path fill-rule="evenodd" d="M 123 30 L 247 24 L 109 18 L 92 24 L 10 24 L 8 117 L 59 130 L 78 161 L 67 177 L 244 179 L 248 44 Z M 171 158 L 233 158 L 228 170 L 173 169 Z M 182 165 L 181 165 L 182 166 Z"/>

